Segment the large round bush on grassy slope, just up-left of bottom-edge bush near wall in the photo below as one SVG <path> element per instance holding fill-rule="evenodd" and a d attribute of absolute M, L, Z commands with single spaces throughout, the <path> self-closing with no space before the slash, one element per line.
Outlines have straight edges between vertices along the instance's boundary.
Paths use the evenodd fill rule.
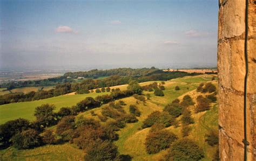
<path fill-rule="evenodd" d="M 151 132 L 146 137 L 146 151 L 149 154 L 158 153 L 170 147 L 171 143 L 178 137 L 168 130 Z"/>

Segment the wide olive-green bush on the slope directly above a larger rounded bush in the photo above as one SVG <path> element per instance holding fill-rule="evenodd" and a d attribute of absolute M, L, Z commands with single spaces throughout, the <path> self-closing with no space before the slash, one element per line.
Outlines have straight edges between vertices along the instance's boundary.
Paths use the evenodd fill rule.
<path fill-rule="evenodd" d="M 169 113 L 153 111 L 147 118 L 143 121 L 142 128 L 151 127 L 155 123 L 163 123 L 165 127 L 170 127 L 175 123 L 175 118 Z"/>

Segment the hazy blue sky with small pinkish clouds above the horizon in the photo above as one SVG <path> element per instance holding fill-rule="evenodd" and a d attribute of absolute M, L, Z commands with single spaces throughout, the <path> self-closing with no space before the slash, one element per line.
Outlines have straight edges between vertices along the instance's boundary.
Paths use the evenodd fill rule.
<path fill-rule="evenodd" d="M 0 68 L 217 64 L 217 0 L 0 0 Z"/>

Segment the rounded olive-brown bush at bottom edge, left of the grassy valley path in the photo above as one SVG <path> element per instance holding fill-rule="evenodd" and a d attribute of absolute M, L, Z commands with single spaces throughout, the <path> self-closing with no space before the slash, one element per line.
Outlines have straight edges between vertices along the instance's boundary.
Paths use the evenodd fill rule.
<path fill-rule="evenodd" d="M 86 150 L 85 160 L 114 160 L 118 156 L 117 146 L 110 141 L 96 141 Z"/>

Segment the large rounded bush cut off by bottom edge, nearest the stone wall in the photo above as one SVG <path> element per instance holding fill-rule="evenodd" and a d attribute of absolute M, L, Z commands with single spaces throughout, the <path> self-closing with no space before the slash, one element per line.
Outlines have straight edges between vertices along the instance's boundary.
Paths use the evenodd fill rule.
<path fill-rule="evenodd" d="M 204 151 L 196 142 L 182 138 L 173 142 L 166 160 L 200 160 L 204 158 Z"/>

